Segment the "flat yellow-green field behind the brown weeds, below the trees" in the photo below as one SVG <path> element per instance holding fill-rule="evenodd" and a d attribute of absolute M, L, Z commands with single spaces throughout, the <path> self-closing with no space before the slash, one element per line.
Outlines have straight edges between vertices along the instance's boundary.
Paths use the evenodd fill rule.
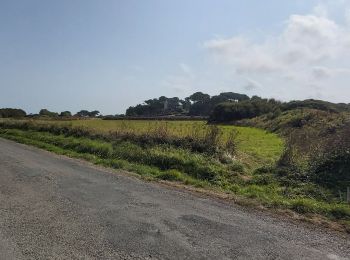
<path fill-rule="evenodd" d="M 47 121 L 45 121 L 47 123 Z M 205 121 L 155 121 L 155 120 L 73 120 L 51 121 L 55 124 L 69 124 L 87 127 L 96 132 L 128 131 L 136 134 L 166 129 L 169 135 L 178 137 L 204 135 L 209 127 Z M 219 126 L 224 142 L 234 132 L 237 142 L 237 157 L 252 168 L 275 163 L 284 148 L 283 140 L 276 134 L 258 128 Z"/>

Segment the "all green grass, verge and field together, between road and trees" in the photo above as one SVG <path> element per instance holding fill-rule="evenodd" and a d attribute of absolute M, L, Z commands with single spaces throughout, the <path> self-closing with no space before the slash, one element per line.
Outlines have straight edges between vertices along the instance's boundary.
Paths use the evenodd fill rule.
<path fill-rule="evenodd" d="M 225 142 L 234 133 L 236 149 L 227 159 L 222 157 L 226 152 L 194 151 L 172 142 L 171 136 L 182 140 L 186 136 L 210 133 L 211 126 L 205 122 L 99 119 L 28 122 L 0 120 L 0 136 L 95 164 L 128 170 L 144 178 L 177 181 L 236 194 L 249 203 L 288 209 L 311 217 L 316 214 L 350 228 L 348 205 L 315 184 L 286 184 L 276 175 L 274 166 L 283 154 L 284 141 L 264 130 L 218 126 L 220 142 Z M 145 142 L 135 135 L 125 136 L 125 133 L 146 134 L 146 138 L 154 138 L 159 133 L 165 135 L 160 142 Z"/>

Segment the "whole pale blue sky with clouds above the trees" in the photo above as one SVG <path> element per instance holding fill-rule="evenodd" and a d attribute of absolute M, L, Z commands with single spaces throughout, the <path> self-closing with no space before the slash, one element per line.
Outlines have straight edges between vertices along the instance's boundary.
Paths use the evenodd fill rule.
<path fill-rule="evenodd" d="M 350 103 L 350 0 L 0 0 L 0 107 L 238 92 Z"/>

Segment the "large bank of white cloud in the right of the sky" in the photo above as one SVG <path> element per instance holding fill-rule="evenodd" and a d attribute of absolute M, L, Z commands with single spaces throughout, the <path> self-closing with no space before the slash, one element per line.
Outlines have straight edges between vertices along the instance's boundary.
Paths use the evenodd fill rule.
<path fill-rule="evenodd" d="M 261 82 L 269 91 L 265 96 L 271 93 L 291 99 L 320 97 L 322 93 L 334 101 L 350 102 L 346 98 L 350 96 L 350 11 L 343 11 L 344 23 L 336 22 L 328 12 L 331 4 L 333 8 L 334 2 L 322 1 L 310 14 L 291 15 L 278 35 L 260 42 L 238 35 L 208 40 L 203 47 L 215 64 L 235 71 L 234 77 Z M 253 86 L 244 88 L 256 89 Z"/>

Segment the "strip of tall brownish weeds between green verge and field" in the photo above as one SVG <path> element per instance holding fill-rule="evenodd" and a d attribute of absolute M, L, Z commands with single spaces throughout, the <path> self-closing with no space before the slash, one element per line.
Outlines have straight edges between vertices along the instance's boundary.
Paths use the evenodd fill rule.
<path fill-rule="evenodd" d="M 2 121 L 1 128 L 33 130 L 63 134 L 65 136 L 89 137 L 93 139 L 104 139 L 108 141 L 133 141 L 140 145 L 168 144 L 175 147 L 189 149 L 193 152 L 216 154 L 229 151 L 235 152 L 234 139 L 223 141 L 223 132 L 217 126 L 208 126 L 201 131 L 197 125 L 193 125 L 192 134 L 175 136 L 170 133 L 167 124 L 159 124 L 144 129 L 142 133 L 136 133 L 132 128 L 123 126 L 114 131 L 98 132 L 82 126 L 71 126 L 69 124 L 52 124 L 35 121 Z"/>

